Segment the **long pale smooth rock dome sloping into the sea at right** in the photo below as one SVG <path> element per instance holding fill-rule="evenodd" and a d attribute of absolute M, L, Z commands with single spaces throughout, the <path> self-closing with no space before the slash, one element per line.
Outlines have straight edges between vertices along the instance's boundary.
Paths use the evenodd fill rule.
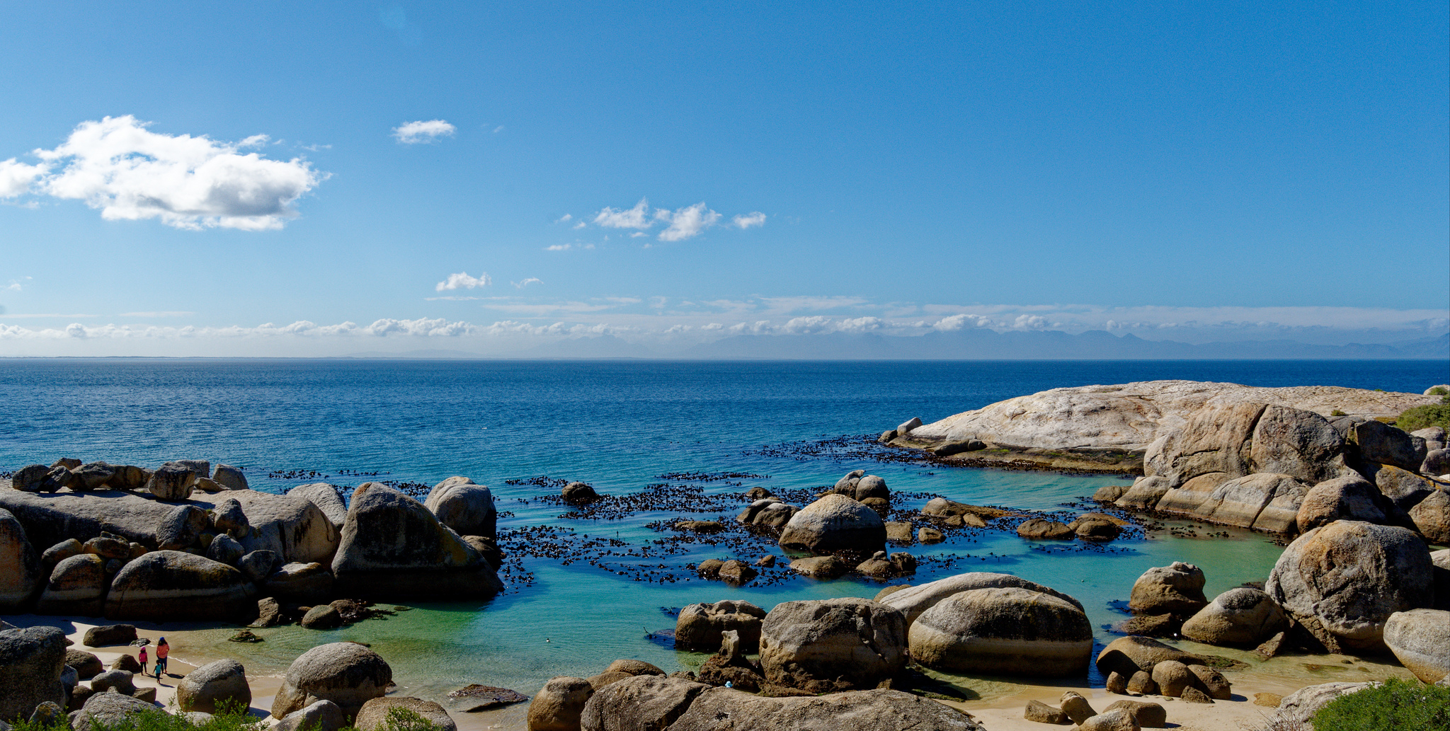
<path fill-rule="evenodd" d="M 1045 453 L 1143 454 L 1154 439 L 1186 426 L 1205 409 L 1275 405 L 1320 416 L 1340 410 L 1375 418 L 1398 416 L 1411 406 L 1425 403 L 1438 403 L 1438 396 L 1331 386 L 1260 389 L 1185 380 L 1077 386 L 1018 396 L 957 413 L 916 426 L 893 444 L 935 447 L 976 438 L 989 448 L 1012 450 L 1027 458 Z"/>

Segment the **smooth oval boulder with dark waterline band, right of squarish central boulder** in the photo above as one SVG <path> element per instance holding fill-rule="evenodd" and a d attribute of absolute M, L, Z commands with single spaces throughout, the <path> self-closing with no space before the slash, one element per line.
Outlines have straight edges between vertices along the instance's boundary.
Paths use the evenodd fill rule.
<path fill-rule="evenodd" d="M 912 660 L 964 673 L 1083 674 L 1092 624 L 1063 599 L 1028 589 L 973 589 L 922 612 L 908 632 Z"/>

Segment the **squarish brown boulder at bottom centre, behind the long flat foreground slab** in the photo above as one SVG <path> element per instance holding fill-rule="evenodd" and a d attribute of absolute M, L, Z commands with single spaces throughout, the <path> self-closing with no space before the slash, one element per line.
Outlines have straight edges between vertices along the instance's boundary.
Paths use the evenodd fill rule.
<path fill-rule="evenodd" d="M 876 687 L 906 666 L 906 616 L 867 599 L 782 602 L 761 624 L 760 666 L 812 693 Z"/>

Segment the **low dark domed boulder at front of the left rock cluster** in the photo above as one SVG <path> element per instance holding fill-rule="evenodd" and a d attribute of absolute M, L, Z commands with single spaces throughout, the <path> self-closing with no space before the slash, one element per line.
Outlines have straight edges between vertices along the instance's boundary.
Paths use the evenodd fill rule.
<path fill-rule="evenodd" d="M 181 551 L 151 551 L 112 579 L 106 618 L 236 621 L 257 615 L 252 583 L 231 566 Z"/>

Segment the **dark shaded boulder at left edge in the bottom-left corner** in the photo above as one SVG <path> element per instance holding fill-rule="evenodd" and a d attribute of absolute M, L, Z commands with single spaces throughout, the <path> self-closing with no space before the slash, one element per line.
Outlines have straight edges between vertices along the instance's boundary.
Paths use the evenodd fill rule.
<path fill-rule="evenodd" d="M 54 627 L 0 631 L 0 721 L 30 718 L 35 706 L 65 703 L 65 634 Z"/>

